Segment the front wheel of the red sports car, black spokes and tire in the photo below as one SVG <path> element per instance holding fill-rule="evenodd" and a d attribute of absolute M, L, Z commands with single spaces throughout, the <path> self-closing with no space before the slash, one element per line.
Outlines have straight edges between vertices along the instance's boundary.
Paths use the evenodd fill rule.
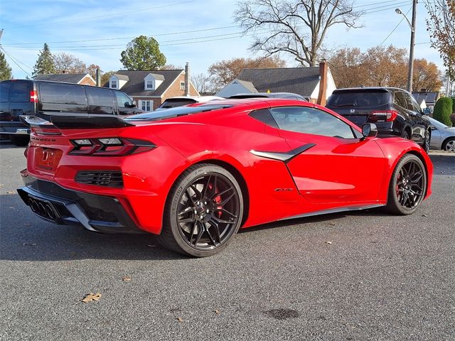
<path fill-rule="evenodd" d="M 390 178 L 386 210 L 395 215 L 411 215 L 422 202 L 427 188 L 427 172 L 422 161 L 405 154 Z"/>

